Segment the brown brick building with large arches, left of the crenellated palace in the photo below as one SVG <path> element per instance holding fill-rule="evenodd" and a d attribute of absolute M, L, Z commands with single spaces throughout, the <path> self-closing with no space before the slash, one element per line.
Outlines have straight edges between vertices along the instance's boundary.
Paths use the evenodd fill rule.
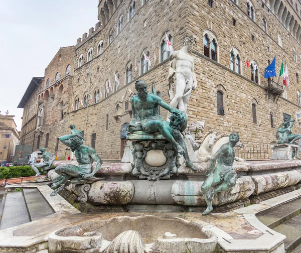
<path fill-rule="evenodd" d="M 50 152 L 64 156 L 65 147 L 62 145 L 58 152 L 58 138 L 68 131 L 74 50 L 75 46 L 60 48 L 40 82 L 36 86 L 30 83 L 26 103 L 20 102 L 19 106 L 24 108 L 21 144 L 32 145 L 33 151 L 46 147 Z"/>

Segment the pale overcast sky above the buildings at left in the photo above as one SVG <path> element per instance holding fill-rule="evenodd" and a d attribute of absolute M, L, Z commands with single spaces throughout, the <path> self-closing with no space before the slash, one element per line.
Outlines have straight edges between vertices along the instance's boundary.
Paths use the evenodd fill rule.
<path fill-rule="evenodd" d="M 98 0 L 0 0 L 0 111 L 15 115 L 32 77 L 44 70 L 60 47 L 95 27 Z"/>

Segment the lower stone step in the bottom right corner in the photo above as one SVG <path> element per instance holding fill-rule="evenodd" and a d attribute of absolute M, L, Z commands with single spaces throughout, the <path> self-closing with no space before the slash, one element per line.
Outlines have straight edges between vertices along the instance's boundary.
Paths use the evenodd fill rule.
<path fill-rule="evenodd" d="M 301 244 L 301 214 L 286 220 L 273 230 L 286 236 L 284 248 L 286 253 L 290 253 Z"/>

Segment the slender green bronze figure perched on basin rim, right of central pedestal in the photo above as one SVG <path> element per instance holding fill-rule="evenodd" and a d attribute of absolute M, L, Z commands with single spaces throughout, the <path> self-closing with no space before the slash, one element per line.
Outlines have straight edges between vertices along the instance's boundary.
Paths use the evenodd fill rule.
<path fill-rule="evenodd" d="M 207 209 L 203 215 L 207 215 L 213 210 L 212 200 L 216 193 L 229 190 L 234 187 L 237 174 L 233 167 L 235 159 L 235 145 L 239 141 L 239 135 L 232 133 L 229 136 L 229 142 L 221 146 L 221 148 L 211 157 L 209 174 L 202 185 L 203 197 L 207 203 Z M 215 166 L 217 161 L 217 165 Z"/>

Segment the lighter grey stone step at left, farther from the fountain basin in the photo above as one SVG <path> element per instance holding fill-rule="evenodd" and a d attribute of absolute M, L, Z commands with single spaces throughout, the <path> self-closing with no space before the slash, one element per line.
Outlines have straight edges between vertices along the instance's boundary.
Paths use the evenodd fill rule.
<path fill-rule="evenodd" d="M 0 230 L 30 222 L 23 192 L 8 192 L 4 203 Z"/>

